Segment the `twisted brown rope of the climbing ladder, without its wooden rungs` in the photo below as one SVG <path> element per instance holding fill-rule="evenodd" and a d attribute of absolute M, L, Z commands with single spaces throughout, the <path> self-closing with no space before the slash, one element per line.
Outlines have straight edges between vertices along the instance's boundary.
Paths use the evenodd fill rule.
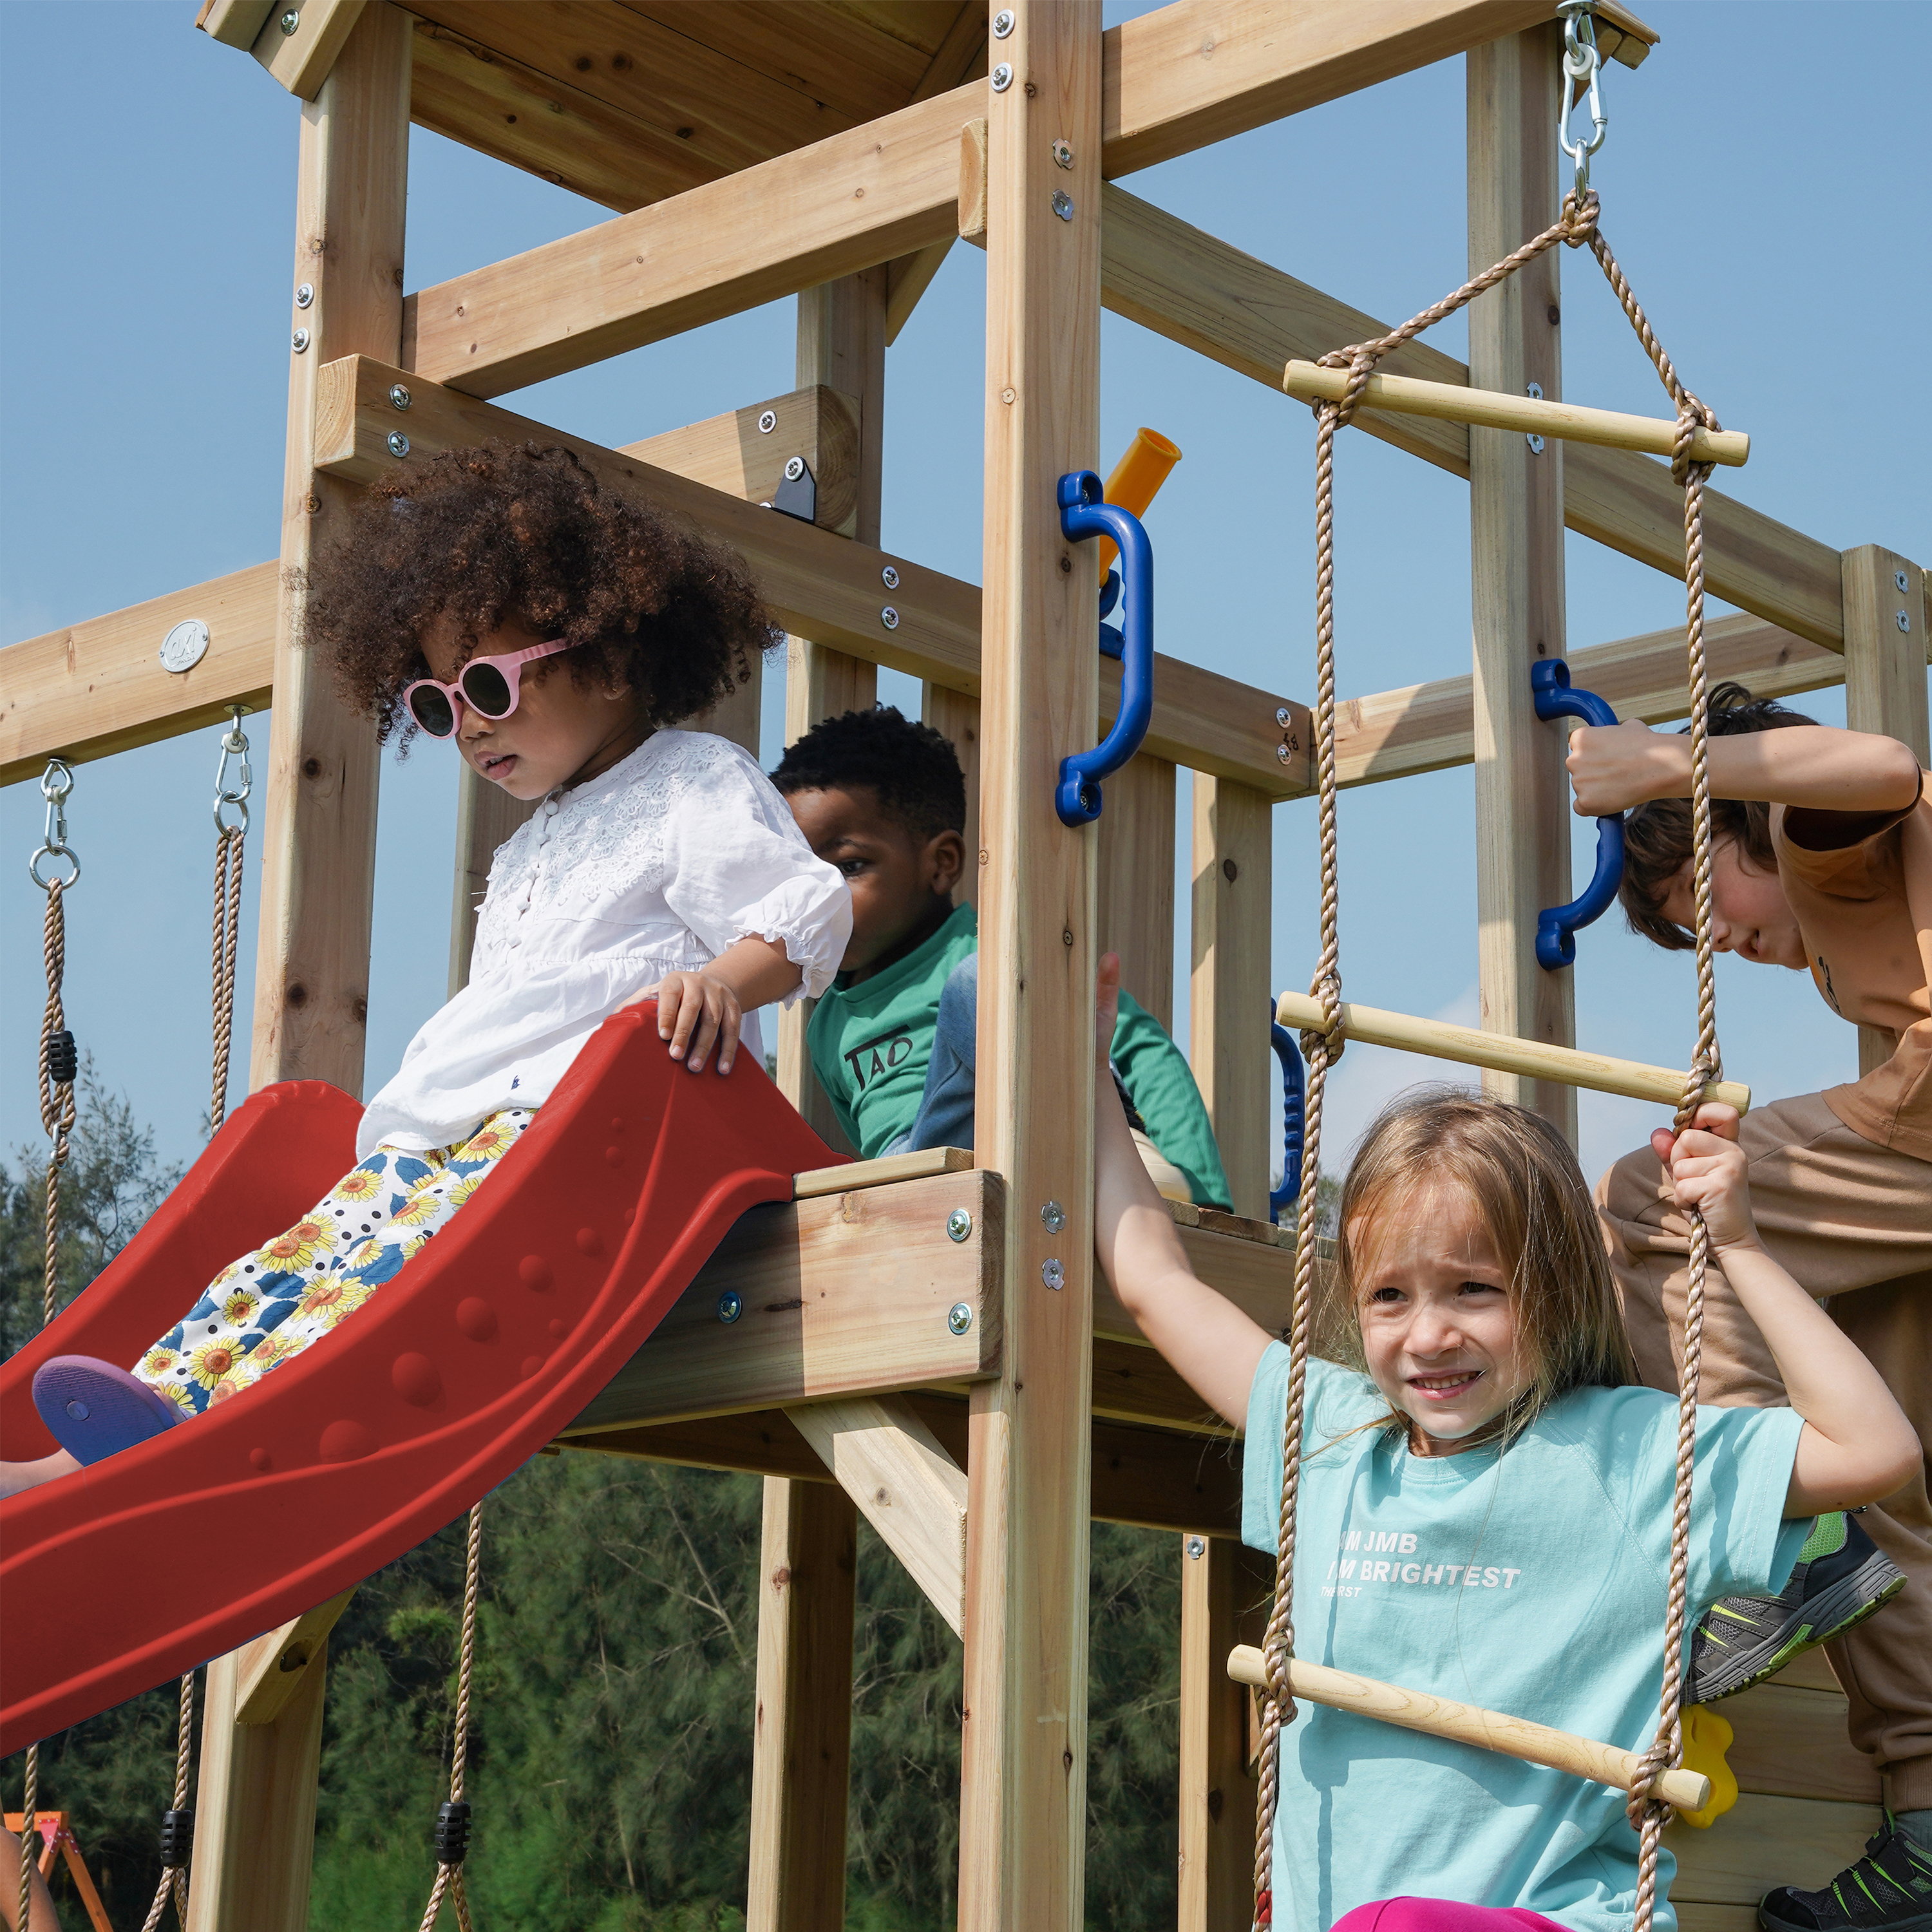
<path fill-rule="evenodd" d="M 1636 330 L 1671 402 L 1677 406 L 1677 448 L 1671 460 L 1671 479 L 1685 493 L 1685 591 L 1687 591 L 1687 653 L 1690 676 L 1690 821 L 1694 852 L 1696 896 L 1696 976 L 1698 976 L 1698 1041 L 1683 1099 L 1677 1107 L 1677 1132 L 1690 1124 L 1708 1082 L 1721 1076 L 1718 1051 L 1718 991 L 1712 949 L 1710 898 L 1710 765 L 1708 765 L 1708 692 L 1704 670 L 1704 483 L 1710 464 L 1690 462 L 1690 439 L 1698 429 L 1718 429 L 1718 417 L 1677 377 L 1669 355 L 1650 328 L 1650 321 L 1631 292 L 1609 243 L 1598 230 L 1600 203 L 1584 182 L 1565 195 L 1561 216 L 1540 236 L 1524 242 L 1515 253 L 1472 276 L 1455 294 L 1403 323 L 1401 328 L 1374 342 L 1356 342 L 1333 350 L 1320 359 L 1323 369 L 1347 369 L 1349 386 L 1339 402 L 1316 404 L 1316 786 L 1321 833 L 1321 956 L 1316 964 L 1310 997 L 1321 1005 L 1323 1028 L 1302 1034 L 1302 1055 L 1308 1061 L 1306 1124 L 1302 1134 L 1302 1188 L 1294 1208 L 1294 1300 L 1289 1316 L 1289 1395 L 1281 1426 L 1281 1520 L 1275 1551 L 1275 1600 L 1262 1642 L 1267 1690 L 1262 1696 L 1262 1754 L 1256 1791 L 1254 1824 L 1254 1924 L 1273 1922 L 1273 1851 L 1275 1808 L 1281 1779 L 1281 1731 L 1294 1721 L 1294 1698 L 1289 1690 L 1289 1662 L 1294 1656 L 1294 1534 L 1300 1501 L 1300 1457 L 1308 1387 L 1308 1331 L 1314 1308 L 1316 1204 L 1321 1184 L 1321 1101 L 1327 1070 L 1341 1057 L 1341 945 L 1339 945 L 1339 867 L 1335 856 L 1335 433 L 1345 429 L 1360 406 L 1376 365 L 1403 344 L 1422 334 L 1443 317 L 1495 288 L 1519 269 L 1536 261 L 1559 242 L 1567 247 L 1588 245 L 1617 296 L 1625 317 Z M 1690 1551 L 1690 1476 L 1696 1453 L 1696 1393 L 1704 1339 L 1704 1273 L 1710 1262 L 1710 1238 L 1704 1217 L 1689 1211 L 1690 1262 L 1685 1304 L 1683 1366 L 1679 1374 L 1677 1408 L 1677 1480 L 1671 1497 L 1671 1565 L 1669 1594 L 1663 1621 L 1663 1689 L 1656 1739 L 1644 1754 L 1642 1770 L 1631 1785 L 1629 1816 L 1638 1833 L 1636 1922 L 1634 1932 L 1650 1932 L 1658 1889 L 1658 1845 L 1669 1804 L 1652 1797 L 1658 1777 L 1675 1768 L 1683 1748 L 1683 1634 L 1685 1598 L 1689 1594 Z"/>

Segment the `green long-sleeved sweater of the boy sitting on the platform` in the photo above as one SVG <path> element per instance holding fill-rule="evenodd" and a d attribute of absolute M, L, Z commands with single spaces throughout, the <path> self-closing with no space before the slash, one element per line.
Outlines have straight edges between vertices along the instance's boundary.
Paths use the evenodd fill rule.
<path fill-rule="evenodd" d="M 875 1159 L 918 1117 L 939 993 L 952 968 L 978 949 L 974 908 L 954 906 L 925 945 L 858 985 L 835 980 L 813 1009 L 806 1028 L 811 1070 L 866 1159 Z M 1113 1061 L 1134 1111 L 1148 1122 L 1148 1138 L 1188 1177 L 1194 1202 L 1227 1208 L 1227 1175 L 1194 1074 L 1161 1022 L 1126 993 L 1113 1030 Z"/>

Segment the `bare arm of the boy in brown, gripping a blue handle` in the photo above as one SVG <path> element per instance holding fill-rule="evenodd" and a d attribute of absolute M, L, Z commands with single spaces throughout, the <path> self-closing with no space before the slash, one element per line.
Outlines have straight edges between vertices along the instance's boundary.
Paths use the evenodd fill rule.
<path fill-rule="evenodd" d="M 1642 723 L 1582 724 L 1571 732 L 1569 773 L 1584 817 L 1689 798 L 1690 740 Z M 1710 788 L 1714 798 L 1891 813 L 1918 798 L 1918 759 L 1897 738 L 1789 724 L 1712 738 Z"/>

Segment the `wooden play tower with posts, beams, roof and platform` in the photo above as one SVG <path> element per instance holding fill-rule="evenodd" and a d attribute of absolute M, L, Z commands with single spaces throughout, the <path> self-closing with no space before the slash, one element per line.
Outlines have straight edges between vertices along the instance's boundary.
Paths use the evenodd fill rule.
<path fill-rule="evenodd" d="M 1555 0 L 1171 0 L 1103 33 L 1099 0 L 201 8 L 207 35 L 301 100 L 280 558 L 0 653 L 0 781 L 272 703 L 253 1086 L 361 1090 L 377 744 L 303 653 L 290 572 L 361 483 L 398 466 L 483 437 L 572 446 L 607 487 L 668 502 L 746 556 L 792 636 L 788 736 L 869 703 L 889 665 L 923 680 L 925 717 L 968 771 L 966 891 L 985 954 L 978 1155 L 800 1177 L 788 1208 L 738 1223 L 562 1437 L 765 1478 L 755 1932 L 844 1922 L 858 1513 L 964 1640 L 970 1932 L 1082 1926 L 1088 1522 L 1179 1532 L 1180 1922 L 1248 1924 L 1248 1708 L 1225 1660 L 1252 1640 L 1269 1573 L 1236 1540 L 1238 1445 L 1215 1439 L 1094 1281 L 1094 972 L 1119 951 L 1130 991 L 1173 1020 L 1186 767 L 1192 1059 L 1238 1213 L 1177 1219 L 1198 1271 L 1279 1327 L 1291 1258 L 1265 1221 L 1258 1016 L 1273 993 L 1271 808 L 1312 786 L 1308 711 L 1159 659 L 1142 753 L 1107 782 L 1097 827 L 1063 827 L 1059 761 L 1095 742 L 1119 670 L 1095 653 L 1092 560 L 1068 564 L 1055 485 L 1101 456 L 1103 307 L 1281 408 L 1298 408 L 1281 396 L 1289 359 L 1385 327 L 1138 201 L 1122 176 L 1461 56 L 1468 259 L 1484 267 L 1557 213 L 1553 15 Z M 1656 39 L 1615 0 L 1596 33 L 1627 68 Z M 412 122 L 614 216 L 406 294 Z M 960 240 L 987 253 L 983 585 L 879 549 L 887 350 Z M 1383 373 L 1559 398 L 1561 253 L 1472 307 L 1468 367 L 1408 348 Z M 489 400 L 794 294 L 798 386 L 732 415 L 603 448 Z M 1470 483 L 1474 667 L 1345 701 L 1341 781 L 1474 761 L 1484 1028 L 1575 1045 L 1571 974 L 1534 958 L 1538 908 L 1571 896 L 1571 815 L 1563 726 L 1538 723 L 1528 667 L 1565 655 L 1565 526 L 1681 574 L 1679 493 L 1631 450 L 1534 452 L 1520 433 L 1399 413 L 1358 427 Z M 794 460 L 810 522 L 767 506 Z M 1926 761 L 1920 570 L 1828 549 L 1716 493 L 1704 527 L 1710 587 L 1745 612 L 1712 626 L 1714 678 L 1760 696 L 1845 684 L 1853 726 Z M 207 626 L 207 651 L 176 672 L 156 649 L 184 620 Z M 1621 717 L 1685 715 L 1675 630 L 1569 659 Z M 755 753 L 757 686 L 711 726 Z M 491 852 L 527 810 L 469 773 L 462 784 L 452 985 Z M 781 1076 L 833 1134 L 802 1018 L 788 1014 Z M 1488 1080 L 1575 1136 L 1573 1086 Z M 721 1323 L 726 1291 L 744 1316 Z M 191 1905 L 205 1932 L 307 1924 L 342 1602 L 209 1667 Z M 1723 1712 L 1743 1797 L 1706 1832 L 1671 1832 L 1687 1932 L 1745 1932 L 1768 1884 L 1855 1859 L 1880 1801 L 1822 1656 Z"/>

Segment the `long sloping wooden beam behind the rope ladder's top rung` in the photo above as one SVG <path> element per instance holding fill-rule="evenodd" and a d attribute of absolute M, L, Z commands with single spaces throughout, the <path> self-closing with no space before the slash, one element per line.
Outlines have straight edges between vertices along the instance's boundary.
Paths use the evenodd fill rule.
<path fill-rule="evenodd" d="M 1242 255 L 1121 187 L 1109 185 L 1105 203 L 1101 296 L 1107 307 L 1275 394 L 1291 359 L 1312 361 L 1389 330 L 1387 323 Z M 1515 242 L 1520 236 L 1511 245 Z M 1468 383 L 1463 363 L 1420 342 L 1389 355 L 1381 369 L 1428 383 Z M 1468 475 L 1464 423 L 1366 412 L 1354 427 L 1439 469 Z M 1654 458 L 1586 444 L 1569 450 L 1563 522 L 1625 556 L 1683 576 L 1683 493 Z M 1843 589 L 1830 545 L 1706 491 L 1704 572 L 1714 597 L 1812 643 L 1843 647 Z"/>

